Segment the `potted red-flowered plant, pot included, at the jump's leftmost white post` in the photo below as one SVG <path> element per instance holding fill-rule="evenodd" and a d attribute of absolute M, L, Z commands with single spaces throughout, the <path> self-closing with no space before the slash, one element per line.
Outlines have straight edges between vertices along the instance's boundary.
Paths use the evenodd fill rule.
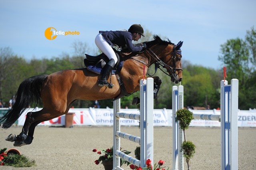
<path fill-rule="evenodd" d="M 122 148 L 120 148 L 121 152 L 124 152 L 125 154 L 130 154 L 131 152 L 127 151 L 127 150 L 122 150 Z M 102 154 L 97 160 L 95 160 L 95 164 L 98 165 L 100 164 L 100 162 L 103 164 L 105 170 L 112 170 L 113 169 L 113 147 L 108 148 L 108 149 L 93 149 L 92 152 L 97 152 L 98 154 Z M 122 166 L 123 164 L 127 164 L 127 166 L 130 164 L 130 162 L 124 160 L 124 159 L 120 159 L 120 166 Z"/>

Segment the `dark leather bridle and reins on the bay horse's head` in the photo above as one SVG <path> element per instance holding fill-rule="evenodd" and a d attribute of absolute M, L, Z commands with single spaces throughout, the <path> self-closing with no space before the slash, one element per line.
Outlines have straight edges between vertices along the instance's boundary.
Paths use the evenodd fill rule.
<path fill-rule="evenodd" d="M 176 61 L 177 61 L 177 60 L 176 60 L 176 53 L 179 53 L 179 54 L 181 55 L 181 50 L 176 50 L 176 45 L 173 45 L 171 57 L 170 57 L 170 59 L 168 59 L 168 61 L 166 62 L 166 63 L 168 63 L 169 61 L 171 61 L 171 60 L 173 59 L 173 65 L 172 65 L 172 67 L 169 66 L 169 65 L 167 65 L 166 63 L 164 63 L 164 62 L 154 53 L 154 51 L 152 51 L 152 49 L 148 48 L 148 49 L 146 49 L 146 51 L 151 55 L 151 57 L 153 57 L 153 58 L 156 60 L 156 63 L 155 63 L 155 73 L 156 73 L 157 69 L 159 68 L 159 69 L 160 69 L 163 73 L 165 73 L 166 75 L 175 78 L 176 75 L 177 75 L 177 74 L 176 74 L 176 71 L 178 71 L 178 70 L 181 70 L 181 71 L 182 71 L 182 68 L 176 68 Z M 181 57 L 182 57 L 182 55 L 181 55 Z M 149 62 L 149 64 L 150 64 L 150 60 L 149 60 L 148 62 Z M 164 70 L 162 70 L 162 69 L 160 68 L 160 65 L 161 65 L 162 67 L 166 68 L 167 71 L 170 70 L 171 75 L 168 74 L 168 73 L 166 73 Z M 154 73 L 154 74 L 155 74 L 155 73 Z M 153 74 L 153 75 L 154 75 L 154 74 Z M 148 75 L 149 75 L 149 74 L 148 74 Z M 150 76 L 153 76 L 153 75 L 150 75 Z"/>

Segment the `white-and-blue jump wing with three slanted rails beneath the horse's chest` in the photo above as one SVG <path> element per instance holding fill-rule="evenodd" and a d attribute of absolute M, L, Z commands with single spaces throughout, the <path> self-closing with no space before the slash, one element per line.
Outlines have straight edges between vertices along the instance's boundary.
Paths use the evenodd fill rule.
<path fill-rule="evenodd" d="M 153 84 L 154 79 L 140 80 L 140 114 L 121 113 L 120 99 L 114 101 L 114 144 L 113 144 L 113 169 L 123 170 L 120 167 L 120 158 L 128 162 L 146 167 L 146 160 L 154 160 L 154 127 L 153 127 Z M 140 137 L 121 132 L 120 118 L 140 120 Z M 140 160 L 124 154 L 120 151 L 120 138 L 140 144 Z"/>

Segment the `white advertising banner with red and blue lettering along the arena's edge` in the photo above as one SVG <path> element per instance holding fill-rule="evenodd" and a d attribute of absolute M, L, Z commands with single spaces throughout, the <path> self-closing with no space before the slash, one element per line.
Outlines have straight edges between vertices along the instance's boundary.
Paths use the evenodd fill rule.
<path fill-rule="evenodd" d="M 24 125 L 26 114 L 30 111 L 39 111 L 41 108 L 26 109 L 18 119 L 18 125 Z M 214 114 L 220 115 L 220 110 L 190 110 L 194 114 Z M 140 113 L 138 109 L 121 109 L 125 113 Z M 74 113 L 73 125 L 85 126 L 113 126 L 113 109 L 70 109 L 69 113 Z M 39 126 L 59 126 L 65 125 L 66 117 L 62 115 L 50 121 L 45 121 Z M 139 121 L 120 118 L 121 126 L 138 126 Z M 172 126 L 172 109 L 154 109 L 154 126 Z M 218 121 L 192 120 L 191 127 L 220 127 Z M 238 110 L 238 127 L 256 127 L 256 110 Z"/>

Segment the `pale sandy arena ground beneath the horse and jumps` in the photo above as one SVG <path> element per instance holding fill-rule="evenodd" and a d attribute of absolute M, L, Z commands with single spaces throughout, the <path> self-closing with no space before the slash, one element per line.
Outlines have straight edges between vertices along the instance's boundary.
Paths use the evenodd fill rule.
<path fill-rule="evenodd" d="M 110 148 L 113 145 L 113 127 L 36 127 L 32 144 L 14 147 L 5 140 L 11 133 L 19 134 L 22 127 L 0 130 L 0 148 L 17 148 L 22 154 L 36 161 L 36 167 L 13 168 L 1 166 L 1 170 L 104 170 L 94 164 L 99 155 L 94 148 Z M 123 132 L 139 135 L 138 127 L 121 127 Z M 191 160 L 191 170 L 220 170 L 220 128 L 190 127 L 187 139 L 196 145 Z M 138 144 L 122 139 L 121 146 L 134 156 Z M 256 169 L 256 128 L 238 128 L 239 170 Z M 154 163 L 165 161 L 172 169 L 172 128 L 154 127 Z M 187 165 L 184 165 L 187 169 Z M 130 167 L 123 167 L 129 170 Z M 166 168 L 166 169 L 167 169 Z"/>

